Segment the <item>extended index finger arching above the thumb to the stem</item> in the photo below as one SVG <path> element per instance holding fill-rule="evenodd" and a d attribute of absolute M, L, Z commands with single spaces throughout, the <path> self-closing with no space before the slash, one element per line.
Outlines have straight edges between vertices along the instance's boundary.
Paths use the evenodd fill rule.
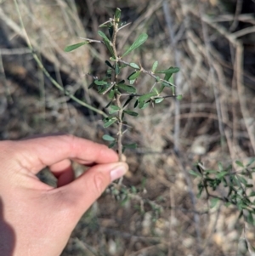
<path fill-rule="evenodd" d="M 23 168 L 37 174 L 42 168 L 65 159 L 82 164 L 116 162 L 118 157 L 105 145 L 72 135 L 48 136 L 13 142 L 15 157 Z"/>

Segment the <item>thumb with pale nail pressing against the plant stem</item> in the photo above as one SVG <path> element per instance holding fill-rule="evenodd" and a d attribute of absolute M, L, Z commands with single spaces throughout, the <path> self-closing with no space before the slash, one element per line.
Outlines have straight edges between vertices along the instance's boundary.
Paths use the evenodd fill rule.
<path fill-rule="evenodd" d="M 65 186 L 65 193 L 75 201 L 74 207 L 82 215 L 101 196 L 115 179 L 127 173 L 126 162 L 98 164 Z M 64 187 L 62 187 L 64 188 Z M 79 213 L 78 213 L 79 214 Z"/>

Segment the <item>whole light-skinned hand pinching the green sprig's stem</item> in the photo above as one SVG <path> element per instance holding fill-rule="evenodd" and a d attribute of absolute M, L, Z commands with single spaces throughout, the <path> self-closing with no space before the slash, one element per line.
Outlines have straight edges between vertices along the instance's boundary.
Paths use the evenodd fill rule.
<path fill-rule="evenodd" d="M 0 142 L 0 254 L 58 256 L 107 185 L 127 172 L 116 152 L 71 135 Z M 90 166 L 77 179 L 71 162 Z M 48 167 L 57 188 L 36 174 Z"/>

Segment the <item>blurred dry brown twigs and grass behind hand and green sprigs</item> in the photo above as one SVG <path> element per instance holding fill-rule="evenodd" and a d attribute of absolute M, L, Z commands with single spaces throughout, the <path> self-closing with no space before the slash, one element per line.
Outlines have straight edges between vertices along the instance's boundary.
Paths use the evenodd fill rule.
<path fill-rule="evenodd" d="M 99 109 L 107 99 L 88 91 L 84 74 L 105 71 L 105 48 L 90 45 L 70 54 L 63 48 L 77 37 L 98 39 L 99 24 L 116 7 L 133 22 L 120 32 L 119 48 L 146 31 L 150 38 L 133 60 L 147 69 L 154 60 L 181 69 L 176 84 L 184 99 L 165 100 L 130 120 L 126 139 L 139 148 L 127 152 L 130 172 L 123 183 L 137 194 L 131 191 L 130 201 L 121 203 L 122 195 L 106 191 L 62 255 L 249 255 L 252 227 L 244 229 L 235 208 L 210 209 L 206 198 L 198 200 L 188 172 L 196 161 L 217 168 L 254 156 L 254 1 L 20 0 L 19 6 L 50 75 Z M 61 94 L 33 60 L 13 1 L 1 1 L 0 18 L 0 138 L 71 133 L 102 142 L 101 117 Z M 149 83 L 145 78 L 137 86 Z M 54 184 L 47 172 L 41 178 Z"/>

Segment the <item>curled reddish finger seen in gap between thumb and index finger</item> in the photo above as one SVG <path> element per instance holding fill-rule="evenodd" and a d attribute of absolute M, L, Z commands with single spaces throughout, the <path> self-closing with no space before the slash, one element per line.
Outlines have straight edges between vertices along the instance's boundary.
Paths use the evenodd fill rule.
<path fill-rule="evenodd" d="M 57 162 L 50 166 L 49 169 L 58 179 L 57 187 L 67 185 L 75 178 L 73 168 L 71 167 L 71 161 L 69 159 Z"/>

